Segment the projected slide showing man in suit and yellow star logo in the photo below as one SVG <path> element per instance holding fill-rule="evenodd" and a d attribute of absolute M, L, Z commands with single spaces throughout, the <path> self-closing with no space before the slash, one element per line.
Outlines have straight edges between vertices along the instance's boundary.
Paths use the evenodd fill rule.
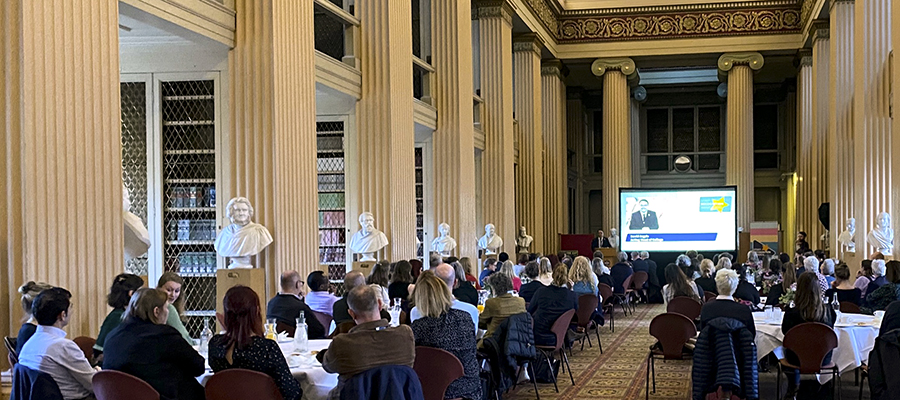
<path fill-rule="evenodd" d="M 622 251 L 735 250 L 734 198 L 734 187 L 620 189 Z"/>

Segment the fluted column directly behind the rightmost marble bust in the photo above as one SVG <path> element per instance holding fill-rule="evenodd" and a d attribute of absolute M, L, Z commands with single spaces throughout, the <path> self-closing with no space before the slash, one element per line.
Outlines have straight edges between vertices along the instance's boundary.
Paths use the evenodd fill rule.
<path fill-rule="evenodd" d="M 856 2 L 854 9 L 854 214 L 857 252 L 869 254 L 866 234 L 892 209 L 890 71 L 891 2 Z M 895 155 L 894 155 L 895 157 Z M 896 224 L 895 224 L 896 226 Z M 896 242 L 896 240 L 895 240 Z"/>

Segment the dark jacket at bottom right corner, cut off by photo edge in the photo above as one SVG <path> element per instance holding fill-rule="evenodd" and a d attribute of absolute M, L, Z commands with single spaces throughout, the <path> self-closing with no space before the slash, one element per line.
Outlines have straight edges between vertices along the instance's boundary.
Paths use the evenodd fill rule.
<path fill-rule="evenodd" d="M 872 400 L 893 399 L 900 393 L 900 329 L 882 333 L 869 353 L 869 391 Z M 893 395 L 889 393 L 894 393 Z"/>

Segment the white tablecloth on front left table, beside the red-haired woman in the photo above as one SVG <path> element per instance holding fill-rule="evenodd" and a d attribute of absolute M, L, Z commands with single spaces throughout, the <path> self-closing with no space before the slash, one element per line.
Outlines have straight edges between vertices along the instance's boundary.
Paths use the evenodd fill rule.
<path fill-rule="evenodd" d="M 321 351 L 327 349 L 328 345 L 330 344 L 330 339 L 310 340 L 309 350 Z M 297 353 L 294 353 L 293 342 L 279 343 L 278 346 L 281 347 L 281 351 L 284 353 L 284 357 L 288 360 L 289 365 L 298 365 L 291 367 L 291 374 L 294 375 L 294 378 L 297 379 L 297 382 L 300 382 L 300 387 L 303 389 L 303 399 L 327 399 L 328 392 L 330 392 L 331 389 L 337 386 L 337 374 L 329 374 L 325 372 L 325 370 L 322 369 L 322 364 L 319 364 L 318 361 L 315 360 L 315 357 L 297 356 Z M 294 355 L 292 356 L 291 354 Z M 207 367 L 206 373 L 197 377 L 197 380 L 200 381 L 201 385 L 206 385 L 206 382 L 210 377 L 212 377 L 212 375 L 212 370 Z"/>

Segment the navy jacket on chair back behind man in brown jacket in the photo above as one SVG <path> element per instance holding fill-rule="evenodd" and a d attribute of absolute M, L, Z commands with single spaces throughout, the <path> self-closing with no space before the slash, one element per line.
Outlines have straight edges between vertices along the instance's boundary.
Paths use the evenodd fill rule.
<path fill-rule="evenodd" d="M 353 375 L 341 389 L 341 400 L 424 399 L 416 371 L 405 365 L 383 365 Z"/>

